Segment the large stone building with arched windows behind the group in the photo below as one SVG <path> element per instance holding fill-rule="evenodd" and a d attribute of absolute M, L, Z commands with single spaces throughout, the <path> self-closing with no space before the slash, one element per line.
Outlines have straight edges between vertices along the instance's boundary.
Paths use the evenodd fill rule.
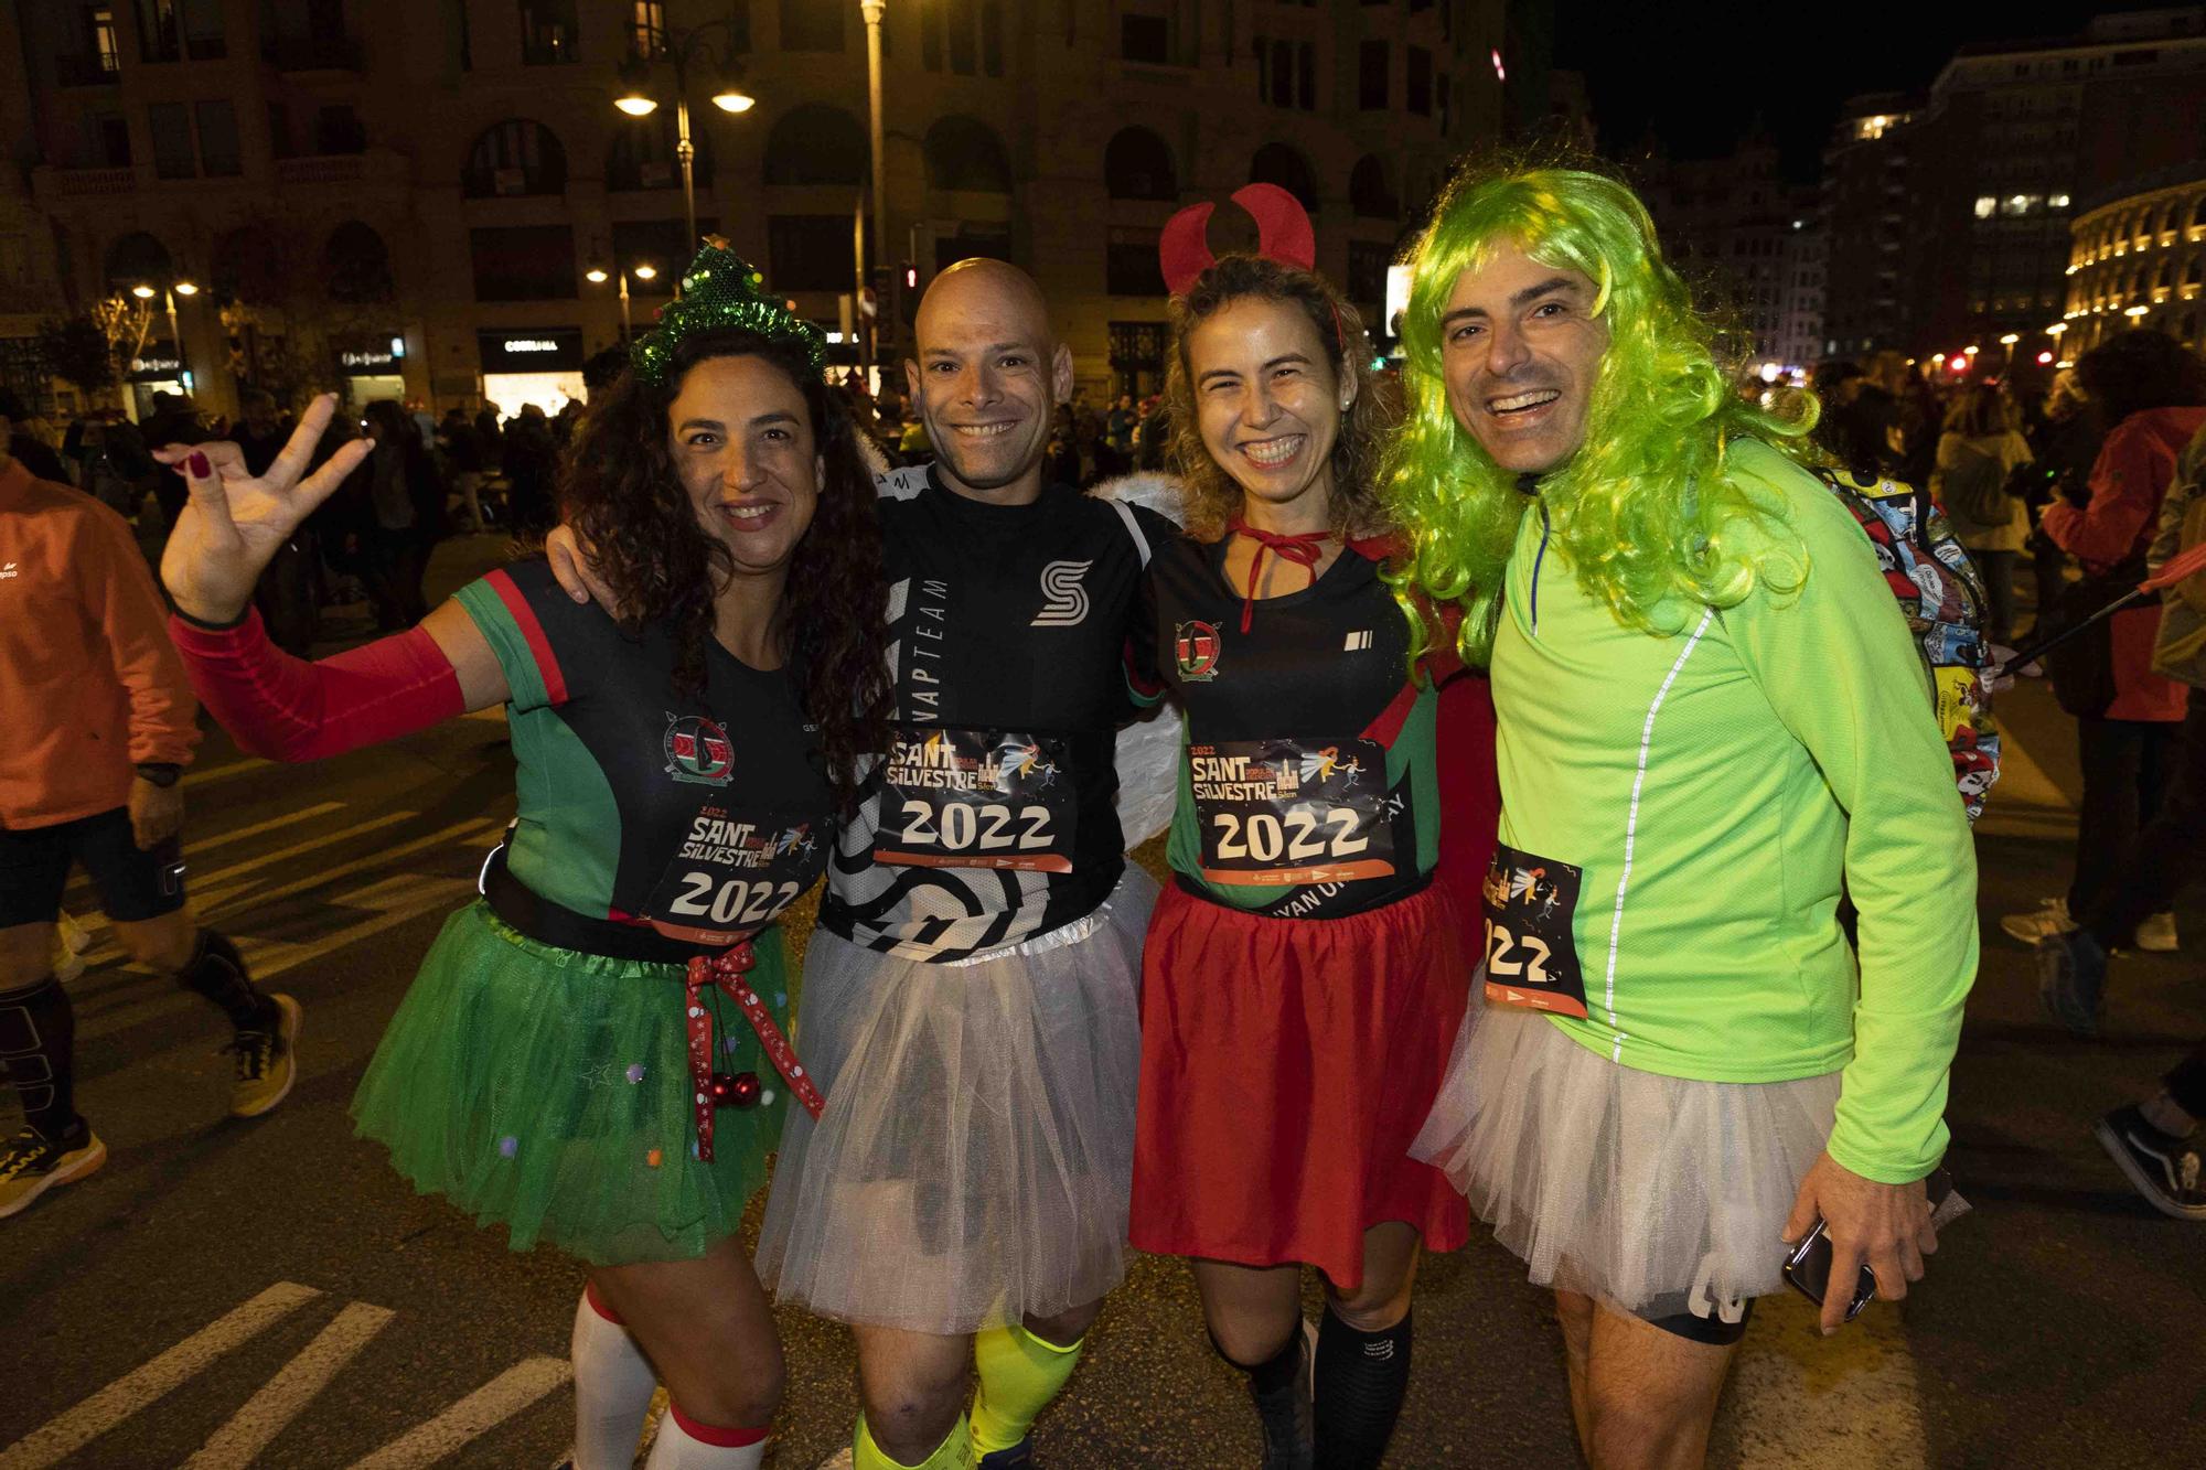
<path fill-rule="evenodd" d="M 924 289 L 966 256 L 1015 260 L 1083 388 L 1147 393 L 1165 219 L 1262 179 L 1310 205 L 1319 269 L 1377 322 L 1414 207 L 1502 124 L 1504 11 L 889 0 L 869 263 L 898 287 L 909 263 Z M 190 371 L 216 411 L 240 380 L 338 373 L 353 397 L 437 406 L 578 393 L 582 360 L 620 340 L 622 283 L 640 329 L 695 247 L 673 68 L 649 75 L 666 106 L 613 108 L 624 62 L 693 31 L 697 232 L 829 331 L 863 280 L 858 0 L 20 0 L 0 24 L 0 124 L 29 181 L 0 190 L 0 333 L 24 335 L 18 302 L 51 316 L 150 287 L 143 371 Z M 706 102 L 724 64 L 748 113 Z M 1218 249 L 1244 225 L 1220 210 Z M 179 280 L 201 287 L 176 298 L 181 342 Z"/>

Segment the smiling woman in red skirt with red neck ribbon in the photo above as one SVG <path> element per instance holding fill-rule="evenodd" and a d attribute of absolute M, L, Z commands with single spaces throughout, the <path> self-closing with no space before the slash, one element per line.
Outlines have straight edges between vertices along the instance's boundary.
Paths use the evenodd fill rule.
<path fill-rule="evenodd" d="M 1271 205 L 1251 203 L 1262 221 Z M 1227 256 L 1174 300 L 1189 534 L 1149 578 L 1185 766 L 1178 883 L 1143 960 L 1132 1240 L 1191 1258 L 1266 1466 L 1379 1463 L 1418 1251 L 1469 1229 L 1407 1152 L 1471 978 L 1432 881 L 1438 684 L 1463 664 L 1425 653 L 1385 580 L 1399 547 L 1374 494 L 1385 406 L 1368 362 L 1354 309 L 1306 263 Z M 1474 711 L 1447 764 L 1482 764 L 1491 786 L 1482 693 Z M 1315 1364 L 1304 1265 L 1326 1285 Z"/>

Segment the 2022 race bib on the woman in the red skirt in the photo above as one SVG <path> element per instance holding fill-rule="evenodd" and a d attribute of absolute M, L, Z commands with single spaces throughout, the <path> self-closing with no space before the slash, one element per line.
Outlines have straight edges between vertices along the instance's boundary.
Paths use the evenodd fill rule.
<path fill-rule="evenodd" d="M 1187 746 L 1211 883 L 1313 887 L 1394 874 L 1377 739 L 1222 739 Z"/>

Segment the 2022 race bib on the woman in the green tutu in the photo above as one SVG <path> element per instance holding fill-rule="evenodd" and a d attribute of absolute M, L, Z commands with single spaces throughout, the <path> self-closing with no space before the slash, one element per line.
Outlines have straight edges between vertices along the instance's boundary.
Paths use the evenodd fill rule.
<path fill-rule="evenodd" d="M 812 817 L 735 812 L 708 797 L 638 914 L 666 938 L 724 949 L 770 925 L 827 867 Z"/>

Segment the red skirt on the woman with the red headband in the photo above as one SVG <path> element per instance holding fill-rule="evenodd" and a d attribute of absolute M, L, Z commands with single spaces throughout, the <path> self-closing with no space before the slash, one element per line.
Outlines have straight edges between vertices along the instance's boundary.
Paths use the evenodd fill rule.
<path fill-rule="evenodd" d="M 1372 1225 L 1463 1245 L 1469 1207 L 1410 1157 L 1471 980 L 1447 887 L 1262 918 L 1167 885 L 1141 969 L 1136 1249 L 1306 1260 L 1350 1289 Z"/>

